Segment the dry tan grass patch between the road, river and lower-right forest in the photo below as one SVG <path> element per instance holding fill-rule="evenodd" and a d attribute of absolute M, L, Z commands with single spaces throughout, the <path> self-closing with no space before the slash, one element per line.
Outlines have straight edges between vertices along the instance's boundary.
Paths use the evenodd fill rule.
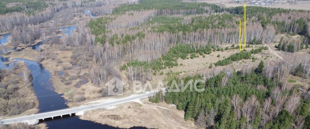
<path fill-rule="evenodd" d="M 196 128 L 193 121 L 184 120 L 184 111 L 170 107 L 166 103 L 152 104 L 147 99 L 142 104 L 129 102 L 105 109 L 86 111 L 80 118 L 121 128 L 133 126 Z"/>

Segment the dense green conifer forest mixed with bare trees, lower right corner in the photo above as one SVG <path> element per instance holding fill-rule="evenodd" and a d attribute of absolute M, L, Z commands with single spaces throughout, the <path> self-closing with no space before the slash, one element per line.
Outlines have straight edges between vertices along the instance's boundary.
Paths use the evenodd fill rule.
<path fill-rule="evenodd" d="M 308 128 L 309 99 L 300 98 L 298 87 L 281 83 L 276 74 L 265 76 L 267 67 L 261 62 L 247 72 L 227 68 L 212 73 L 210 78 L 203 75 L 173 77 L 168 88 L 183 88 L 177 85 L 180 80 L 188 84 L 206 78 L 205 83 L 197 84 L 198 89 L 205 90 L 190 91 L 190 87 L 185 87 L 184 92 L 168 92 L 165 96 L 159 92 L 151 96 L 150 101 L 164 100 L 177 105 L 177 109 L 185 111 L 185 120 L 194 120 L 203 128 Z M 294 72 L 298 72 L 297 69 Z"/>

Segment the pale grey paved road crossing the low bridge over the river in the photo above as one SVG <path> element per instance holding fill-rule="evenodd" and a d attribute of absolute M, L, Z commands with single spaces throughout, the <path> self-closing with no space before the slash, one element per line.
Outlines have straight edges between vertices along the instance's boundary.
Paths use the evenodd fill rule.
<path fill-rule="evenodd" d="M 23 116 L 23 117 L 16 117 L 16 118 L 0 120 L 0 124 L 25 122 L 25 121 L 29 121 L 29 120 L 39 120 L 39 119 L 44 119 L 44 118 L 51 118 L 51 117 L 67 115 L 67 114 L 71 114 L 71 113 L 78 113 L 78 112 L 82 112 L 82 111 L 103 108 L 103 107 L 106 107 L 106 106 L 122 104 L 122 103 L 126 103 L 126 102 L 129 102 L 129 101 L 132 101 L 132 100 L 137 100 L 137 99 L 145 98 L 145 97 L 148 97 L 150 95 L 153 95 L 154 93 L 155 92 L 143 93 L 143 94 L 139 94 L 139 95 L 132 96 L 132 97 L 129 96 L 129 97 L 122 98 L 122 99 L 117 99 L 115 101 L 108 102 L 108 103 L 100 103 L 100 104 L 95 104 L 95 105 L 85 105 L 85 106 L 80 106 L 80 107 L 75 107 L 75 108 L 60 109 L 60 110 L 55 110 L 55 111 L 50 111 L 50 112 L 33 114 L 33 115 L 29 115 L 29 116 Z"/>

